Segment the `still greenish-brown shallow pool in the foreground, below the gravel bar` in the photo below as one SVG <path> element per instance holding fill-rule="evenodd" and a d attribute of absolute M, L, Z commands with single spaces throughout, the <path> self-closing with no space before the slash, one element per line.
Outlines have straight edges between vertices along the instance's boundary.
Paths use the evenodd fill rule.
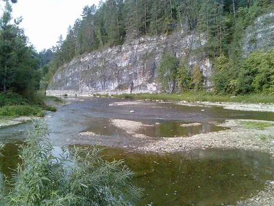
<path fill-rule="evenodd" d="M 60 148 L 55 147 L 58 155 Z M 18 163 L 18 146 L 7 144 L 0 174 L 10 177 Z M 245 150 L 194 150 L 160 155 L 106 148 L 104 158 L 124 159 L 136 174 L 134 185 L 145 189 L 137 205 L 230 205 L 264 189 L 273 179 L 269 155 Z M 3 179 L 1 179 L 3 181 Z"/>

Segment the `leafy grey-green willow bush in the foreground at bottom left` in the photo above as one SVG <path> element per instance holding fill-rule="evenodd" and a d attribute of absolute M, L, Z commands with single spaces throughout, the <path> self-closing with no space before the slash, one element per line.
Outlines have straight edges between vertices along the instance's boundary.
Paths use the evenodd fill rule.
<path fill-rule="evenodd" d="M 34 122 L 21 145 L 16 182 L 1 205 L 130 205 L 142 196 L 129 183 L 134 173 L 123 161 L 104 161 L 96 147 L 63 148 L 53 157 L 45 135 L 45 124 Z"/>

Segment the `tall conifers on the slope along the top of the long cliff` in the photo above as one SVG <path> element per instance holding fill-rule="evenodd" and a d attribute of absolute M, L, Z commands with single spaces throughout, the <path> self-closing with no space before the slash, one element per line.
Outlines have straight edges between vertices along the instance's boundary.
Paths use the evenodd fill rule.
<path fill-rule="evenodd" d="M 55 58 L 44 68 L 49 71 L 45 87 L 55 71 L 74 56 L 120 45 L 125 39 L 168 35 L 175 30 L 206 38 L 200 49 L 203 56 L 213 61 L 221 56 L 239 65 L 245 28 L 272 8 L 272 0 L 106 0 L 98 7 L 85 6 L 82 19 L 76 19 L 66 39 L 60 36 L 53 48 Z M 228 85 L 222 87 L 217 90 L 230 92 Z"/>

